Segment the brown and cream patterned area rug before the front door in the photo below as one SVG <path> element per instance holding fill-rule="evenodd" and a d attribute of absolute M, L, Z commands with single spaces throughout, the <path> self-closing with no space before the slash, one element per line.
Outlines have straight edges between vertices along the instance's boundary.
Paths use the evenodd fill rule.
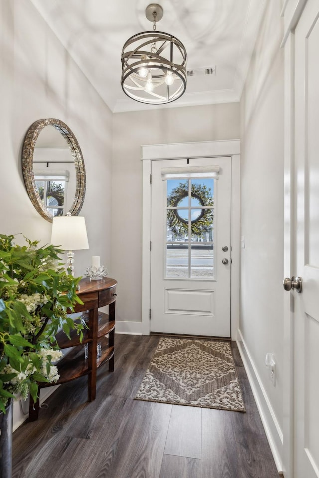
<path fill-rule="evenodd" d="M 136 400 L 245 411 L 229 342 L 162 337 Z"/>

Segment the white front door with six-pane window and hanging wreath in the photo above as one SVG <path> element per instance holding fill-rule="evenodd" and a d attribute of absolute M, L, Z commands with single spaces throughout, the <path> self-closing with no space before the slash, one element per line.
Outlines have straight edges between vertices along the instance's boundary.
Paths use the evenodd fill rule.
<path fill-rule="evenodd" d="M 231 158 L 152 161 L 151 332 L 230 337 Z"/>

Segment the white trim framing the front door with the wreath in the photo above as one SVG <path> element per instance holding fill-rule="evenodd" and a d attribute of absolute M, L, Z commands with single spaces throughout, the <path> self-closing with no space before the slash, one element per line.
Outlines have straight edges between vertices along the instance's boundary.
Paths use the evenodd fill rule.
<path fill-rule="evenodd" d="M 231 156 L 231 338 L 237 340 L 239 327 L 240 277 L 240 140 L 200 141 L 141 146 L 143 167 L 142 205 L 142 334 L 150 334 L 151 304 L 151 164 L 162 159 Z"/>

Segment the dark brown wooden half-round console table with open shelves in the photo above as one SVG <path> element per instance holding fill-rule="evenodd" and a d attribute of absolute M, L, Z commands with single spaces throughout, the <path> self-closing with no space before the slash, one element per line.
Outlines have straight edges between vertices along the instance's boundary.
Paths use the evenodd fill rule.
<path fill-rule="evenodd" d="M 71 340 L 61 331 L 56 340 L 60 349 L 73 349 L 58 363 L 59 380 L 56 383 L 39 383 L 40 388 L 69 382 L 83 375 L 88 376 L 88 402 L 95 399 L 97 368 L 109 362 L 109 371 L 114 371 L 114 330 L 115 300 L 117 281 L 105 277 L 100 280 L 81 279 L 78 296 L 83 305 L 76 304 L 74 312 L 89 311 L 88 329 L 83 331 L 82 343 L 75 330 L 71 331 Z M 99 312 L 99 307 L 109 306 L 109 314 Z M 100 318 L 99 318 L 100 315 Z M 101 317 L 102 315 L 102 317 Z M 106 338 L 108 334 L 108 338 Z M 101 344 L 101 356 L 97 358 L 97 345 Z M 88 358 L 85 359 L 84 345 L 88 344 Z M 33 402 L 30 397 L 29 421 L 37 420 L 39 399 Z"/>

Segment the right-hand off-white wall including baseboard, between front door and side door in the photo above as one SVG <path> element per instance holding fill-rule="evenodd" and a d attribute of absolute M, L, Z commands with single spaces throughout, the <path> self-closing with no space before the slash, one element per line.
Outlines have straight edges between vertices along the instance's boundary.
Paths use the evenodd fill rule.
<path fill-rule="evenodd" d="M 250 366 L 280 468 L 283 426 L 284 52 L 281 2 L 265 15 L 241 100 L 241 319 Z M 276 360 L 276 385 L 265 366 Z"/>

